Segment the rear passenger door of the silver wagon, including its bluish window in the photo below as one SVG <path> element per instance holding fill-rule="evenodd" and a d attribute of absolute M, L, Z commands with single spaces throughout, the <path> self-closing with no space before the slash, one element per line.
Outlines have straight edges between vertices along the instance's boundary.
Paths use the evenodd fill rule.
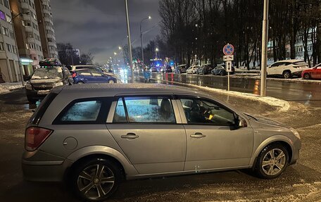
<path fill-rule="evenodd" d="M 186 135 L 171 96 L 122 96 L 107 128 L 141 175 L 182 172 Z"/>

